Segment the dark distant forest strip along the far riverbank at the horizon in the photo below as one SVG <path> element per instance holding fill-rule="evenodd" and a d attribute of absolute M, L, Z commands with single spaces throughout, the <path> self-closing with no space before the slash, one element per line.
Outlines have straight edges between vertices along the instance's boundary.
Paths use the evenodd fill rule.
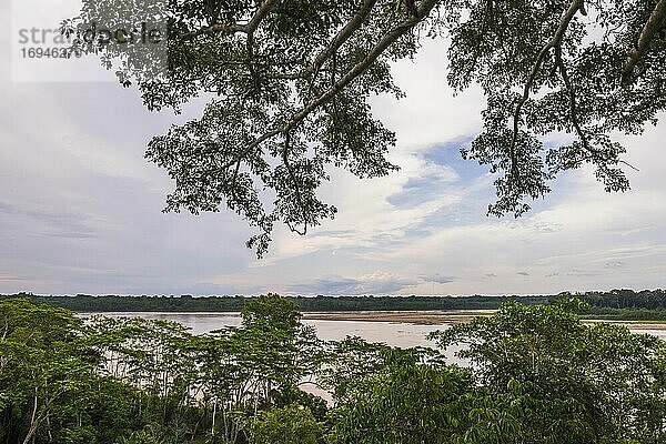
<path fill-rule="evenodd" d="M 30 293 L 0 295 L 0 301 L 26 297 L 77 312 L 240 312 L 248 297 L 235 296 L 44 296 Z M 302 312 L 497 310 L 505 302 L 551 304 L 578 297 L 589 304 L 585 317 L 666 321 L 666 291 L 612 290 L 609 292 L 559 293 L 532 296 L 290 296 Z"/>

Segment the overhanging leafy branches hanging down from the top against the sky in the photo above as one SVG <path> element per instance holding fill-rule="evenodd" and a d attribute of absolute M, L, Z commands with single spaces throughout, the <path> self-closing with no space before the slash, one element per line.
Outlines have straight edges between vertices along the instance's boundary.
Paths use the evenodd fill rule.
<path fill-rule="evenodd" d="M 490 214 L 523 214 L 557 174 L 584 164 L 607 191 L 627 190 L 617 132 L 640 133 L 666 107 L 664 0 L 83 3 L 64 31 L 135 83 L 148 109 L 209 98 L 201 119 L 149 143 L 147 158 L 175 182 L 165 210 L 225 205 L 258 229 L 248 245 L 260 255 L 275 223 L 304 234 L 335 215 L 317 196 L 330 165 L 360 178 L 396 170 L 385 157 L 395 134 L 369 99 L 402 95 L 391 63 L 424 39 L 450 39 L 453 91 L 477 83 L 487 99 L 483 131 L 462 154 L 495 174 Z M 135 51 L 125 31 L 80 32 L 147 21 L 168 29 L 163 54 Z M 545 144 L 547 134 L 565 142 Z"/>

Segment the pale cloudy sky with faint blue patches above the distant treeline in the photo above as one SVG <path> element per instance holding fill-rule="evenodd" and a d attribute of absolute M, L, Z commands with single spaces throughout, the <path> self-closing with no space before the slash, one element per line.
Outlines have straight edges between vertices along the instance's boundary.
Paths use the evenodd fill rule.
<path fill-rule="evenodd" d="M 39 6 L 36 8 L 36 6 Z M 374 98 L 401 171 L 332 170 L 321 195 L 339 215 L 307 236 L 274 232 L 269 254 L 229 211 L 163 213 L 173 183 L 143 153 L 152 135 L 200 115 L 147 111 L 95 60 L 23 59 L 19 31 L 48 29 L 75 0 L 0 6 L 0 293 L 554 294 L 664 287 L 666 124 L 627 148 L 632 190 L 608 194 L 583 169 L 521 219 L 487 218 L 487 169 L 458 150 L 481 129 L 477 89 L 446 85 L 446 44 L 394 65 L 407 97 Z M 556 142 L 556 140 L 553 140 Z"/>

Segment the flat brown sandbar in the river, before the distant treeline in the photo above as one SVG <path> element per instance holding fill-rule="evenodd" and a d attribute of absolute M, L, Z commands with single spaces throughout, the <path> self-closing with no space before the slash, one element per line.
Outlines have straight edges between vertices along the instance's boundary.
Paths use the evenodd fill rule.
<path fill-rule="evenodd" d="M 303 319 L 324 321 L 364 321 L 364 322 L 396 322 L 418 325 L 461 324 L 470 322 L 474 316 L 487 316 L 492 310 L 478 311 L 359 311 L 359 312 L 305 312 Z M 585 323 L 608 322 L 625 325 L 633 330 L 666 330 L 666 323 L 649 323 L 645 321 L 597 321 L 585 320 Z"/>

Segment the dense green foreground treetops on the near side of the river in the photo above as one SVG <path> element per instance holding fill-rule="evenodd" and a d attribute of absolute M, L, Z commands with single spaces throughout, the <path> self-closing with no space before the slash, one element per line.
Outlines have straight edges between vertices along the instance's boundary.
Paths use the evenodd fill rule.
<path fill-rule="evenodd" d="M 585 325 L 581 304 L 507 302 L 395 349 L 322 342 L 278 295 L 204 335 L 6 299 L 0 443 L 664 443 L 666 343 Z"/>

